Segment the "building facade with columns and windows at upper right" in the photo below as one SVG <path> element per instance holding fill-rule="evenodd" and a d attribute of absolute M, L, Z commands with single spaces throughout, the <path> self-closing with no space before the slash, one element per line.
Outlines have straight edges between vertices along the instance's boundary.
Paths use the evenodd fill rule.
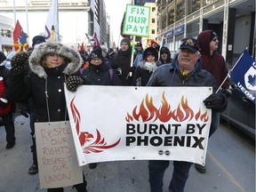
<path fill-rule="evenodd" d="M 220 53 L 232 60 L 248 47 L 255 57 L 254 0 L 157 0 L 157 40 L 177 52 L 180 40 L 213 29 Z M 243 34 L 243 36 L 241 36 Z"/>

